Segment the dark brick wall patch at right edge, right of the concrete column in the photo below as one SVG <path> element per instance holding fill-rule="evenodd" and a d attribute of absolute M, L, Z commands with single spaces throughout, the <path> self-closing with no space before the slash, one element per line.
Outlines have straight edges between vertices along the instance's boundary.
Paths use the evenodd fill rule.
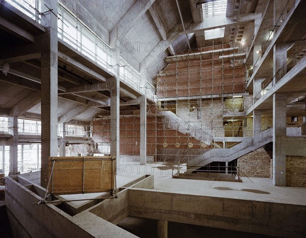
<path fill-rule="evenodd" d="M 286 157 L 286 186 L 306 187 L 306 156 Z"/>

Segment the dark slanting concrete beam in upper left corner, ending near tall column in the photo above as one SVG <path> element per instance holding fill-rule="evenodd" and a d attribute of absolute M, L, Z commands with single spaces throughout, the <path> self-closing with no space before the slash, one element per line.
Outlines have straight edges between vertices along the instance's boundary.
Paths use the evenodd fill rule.
<path fill-rule="evenodd" d="M 14 36 L 17 36 L 21 40 L 25 40 L 27 42 L 34 42 L 34 35 L 23 30 L 22 28 L 18 27 L 18 25 L 13 24 L 2 16 L 0 16 L 0 29 L 3 29 L 4 31 Z"/>

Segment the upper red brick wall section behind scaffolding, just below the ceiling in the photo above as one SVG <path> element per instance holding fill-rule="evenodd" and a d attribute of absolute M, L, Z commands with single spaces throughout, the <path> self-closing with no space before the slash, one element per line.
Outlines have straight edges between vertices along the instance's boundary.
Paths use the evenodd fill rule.
<path fill-rule="evenodd" d="M 168 64 L 164 73 L 157 78 L 159 97 L 196 96 L 221 93 L 244 92 L 244 66 L 233 68 L 230 61 L 219 55 L 200 60 L 178 61 Z"/>

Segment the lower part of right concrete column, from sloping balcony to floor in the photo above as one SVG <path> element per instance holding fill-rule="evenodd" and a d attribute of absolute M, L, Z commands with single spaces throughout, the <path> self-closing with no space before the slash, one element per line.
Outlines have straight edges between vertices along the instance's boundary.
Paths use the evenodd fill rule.
<path fill-rule="evenodd" d="M 286 99 L 273 94 L 273 184 L 286 186 Z"/>

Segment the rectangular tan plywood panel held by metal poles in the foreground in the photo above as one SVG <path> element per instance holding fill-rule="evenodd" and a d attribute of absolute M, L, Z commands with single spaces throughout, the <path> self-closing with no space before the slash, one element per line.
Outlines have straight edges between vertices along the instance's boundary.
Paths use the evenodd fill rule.
<path fill-rule="evenodd" d="M 111 192 L 115 189 L 116 160 L 111 156 L 49 157 L 48 192 L 80 194 Z"/>

